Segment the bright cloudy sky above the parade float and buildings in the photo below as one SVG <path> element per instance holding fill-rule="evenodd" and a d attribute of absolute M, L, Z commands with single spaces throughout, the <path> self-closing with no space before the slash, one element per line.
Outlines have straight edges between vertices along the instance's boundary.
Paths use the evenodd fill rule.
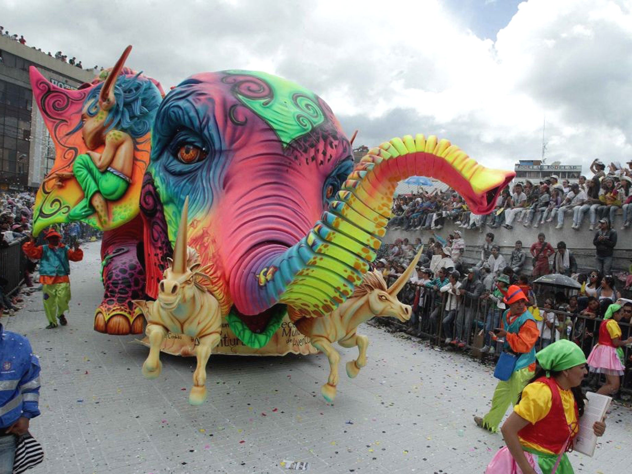
<path fill-rule="evenodd" d="M 632 156 L 632 2 L 3 0 L 3 26 L 84 66 L 176 85 L 264 70 L 323 97 L 355 145 L 448 138 L 487 166 Z"/>

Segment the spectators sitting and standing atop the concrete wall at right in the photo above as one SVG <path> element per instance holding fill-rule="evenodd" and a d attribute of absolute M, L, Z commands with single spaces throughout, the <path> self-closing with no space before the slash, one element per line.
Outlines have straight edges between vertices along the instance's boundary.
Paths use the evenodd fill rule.
<path fill-rule="evenodd" d="M 441 229 L 449 219 L 461 228 L 481 231 L 485 226 L 513 229 L 516 224 L 538 228 L 544 222 L 556 222 L 556 229 L 561 229 L 565 219 L 572 217 L 571 228 L 579 230 L 588 214 L 588 230 L 593 231 L 600 227 L 600 219 L 614 224 L 621 209 L 621 229 L 627 229 L 632 225 L 632 160 L 627 165 L 612 162 L 606 171 L 605 164 L 595 160 L 590 164 L 592 178 L 580 176 L 576 183 L 560 181 L 556 175 L 538 183 L 516 181 L 502 190 L 494 210 L 486 216 L 470 212 L 454 190 L 401 196 L 394 200 L 389 228 Z"/>

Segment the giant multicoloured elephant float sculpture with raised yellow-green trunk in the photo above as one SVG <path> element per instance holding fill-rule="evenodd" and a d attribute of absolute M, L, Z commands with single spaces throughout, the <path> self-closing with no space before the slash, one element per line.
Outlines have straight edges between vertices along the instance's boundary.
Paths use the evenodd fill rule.
<path fill-rule="evenodd" d="M 394 138 L 354 163 L 329 106 L 300 85 L 256 71 L 199 73 L 157 102 L 159 85 L 125 68 L 124 60 L 76 91 L 31 70 L 58 153 L 38 193 L 35 232 L 71 219 L 105 230 L 105 296 L 95 314 L 100 332 L 142 332 L 131 300 L 157 296 L 187 195 L 187 244 L 209 269 L 229 329 L 257 349 L 277 332 L 288 307 L 320 317 L 353 294 L 385 234 L 398 181 L 433 176 L 485 213 L 514 176 L 423 135 Z M 111 111 L 119 105 L 116 118 Z M 150 130 L 140 116 L 151 121 Z M 114 138 L 118 148 L 108 151 Z M 133 155 L 131 174 L 113 166 L 121 150 Z M 70 169 L 83 174 L 59 174 Z M 98 191 L 100 181 L 115 178 L 125 181 L 118 179 L 122 194 L 107 186 Z M 99 193 L 103 200 L 88 199 Z"/>

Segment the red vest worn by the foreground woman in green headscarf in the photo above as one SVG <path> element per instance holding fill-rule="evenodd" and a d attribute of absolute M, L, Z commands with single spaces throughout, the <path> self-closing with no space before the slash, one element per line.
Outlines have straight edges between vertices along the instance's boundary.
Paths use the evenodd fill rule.
<path fill-rule="evenodd" d="M 566 441 L 568 441 L 569 436 L 572 441 L 577 435 L 578 428 L 575 427 L 573 432 L 571 432 L 571 427 L 568 425 L 566 415 L 564 414 L 564 405 L 562 404 L 562 398 L 559 394 L 560 389 L 555 379 L 540 377 L 535 381 L 544 382 L 549 386 L 551 391 L 551 409 L 547 416 L 542 418 L 539 422 L 533 424 L 529 423 L 526 427 L 522 428 L 518 432 L 518 436 L 525 441 L 542 446 L 552 453 L 559 454 L 562 449 L 565 449 Z M 580 418 L 576 403 L 575 418 L 576 420 Z"/>

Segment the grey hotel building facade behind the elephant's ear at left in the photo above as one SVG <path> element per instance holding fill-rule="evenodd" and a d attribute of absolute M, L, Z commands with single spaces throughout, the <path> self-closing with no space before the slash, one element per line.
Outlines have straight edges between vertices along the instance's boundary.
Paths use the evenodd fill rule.
<path fill-rule="evenodd" d="M 95 75 L 0 36 L 0 190 L 39 188 L 55 160 L 44 119 L 33 104 L 30 66 L 64 88 L 77 88 Z"/>

